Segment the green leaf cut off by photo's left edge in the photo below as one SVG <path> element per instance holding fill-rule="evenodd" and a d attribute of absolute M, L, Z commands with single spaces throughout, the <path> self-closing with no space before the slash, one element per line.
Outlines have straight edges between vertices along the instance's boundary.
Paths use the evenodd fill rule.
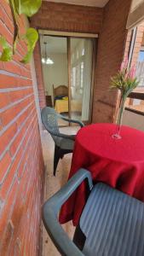
<path fill-rule="evenodd" d="M 13 57 L 13 50 L 9 47 L 6 39 L 1 37 L 0 44 L 3 47 L 2 55 L 0 56 L 0 61 L 11 61 Z"/>

